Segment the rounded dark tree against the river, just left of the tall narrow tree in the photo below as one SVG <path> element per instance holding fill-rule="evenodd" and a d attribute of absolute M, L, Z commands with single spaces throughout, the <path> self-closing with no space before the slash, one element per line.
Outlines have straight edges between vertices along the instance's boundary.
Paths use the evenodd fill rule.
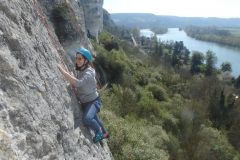
<path fill-rule="evenodd" d="M 201 52 L 193 52 L 191 57 L 191 73 L 200 72 L 200 65 L 203 64 L 204 54 Z"/>

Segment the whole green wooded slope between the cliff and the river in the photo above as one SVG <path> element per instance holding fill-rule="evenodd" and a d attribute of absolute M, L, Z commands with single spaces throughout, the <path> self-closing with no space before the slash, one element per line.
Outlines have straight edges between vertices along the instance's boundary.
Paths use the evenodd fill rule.
<path fill-rule="evenodd" d="M 100 41 L 112 36 L 104 31 Z M 144 56 L 128 41 L 114 39 L 119 51 L 108 51 L 92 41 L 97 52 L 95 64 L 101 65 L 108 75 L 108 103 L 133 159 L 239 158 L 240 103 L 232 95 L 237 90 L 224 89 L 226 84 L 217 76 L 198 73 L 207 68 L 202 53 L 193 53 L 190 66 L 198 74 L 191 75 L 188 68 L 171 65 L 172 54 L 181 62 L 188 55 L 184 47 L 178 50 L 183 46 L 180 42 L 175 51 L 170 50 L 174 43 L 169 48 L 164 46 L 161 60 L 156 55 Z M 99 115 L 111 135 L 108 146 L 115 159 L 129 159 L 108 103 L 102 98 Z"/>

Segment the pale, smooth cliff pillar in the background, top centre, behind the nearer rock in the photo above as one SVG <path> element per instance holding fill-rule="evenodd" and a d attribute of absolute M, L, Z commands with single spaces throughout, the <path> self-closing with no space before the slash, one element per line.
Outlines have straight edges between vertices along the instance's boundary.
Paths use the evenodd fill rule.
<path fill-rule="evenodd" d="M 80 0 L 84 10 L 86 28 L 90 36 L 97 38 L 103 28 L 103 0 Z"/>

